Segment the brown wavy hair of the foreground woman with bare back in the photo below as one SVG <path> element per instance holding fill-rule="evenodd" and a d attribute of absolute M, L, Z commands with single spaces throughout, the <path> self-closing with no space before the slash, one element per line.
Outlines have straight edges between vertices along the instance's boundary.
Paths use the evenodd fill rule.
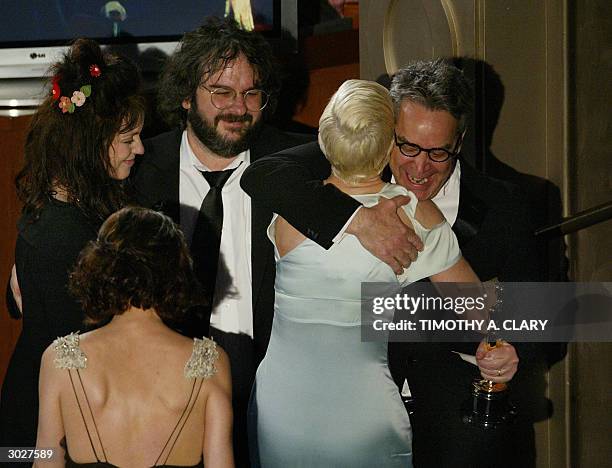
<path fill-rule="evenodd" d="M 180 228 L 166 215 L 127 207 L 102 224 L 68 282 L 86 322 L 100 324 L 130 306 L 152 308 L 169 324 L 206 299 Z"/>

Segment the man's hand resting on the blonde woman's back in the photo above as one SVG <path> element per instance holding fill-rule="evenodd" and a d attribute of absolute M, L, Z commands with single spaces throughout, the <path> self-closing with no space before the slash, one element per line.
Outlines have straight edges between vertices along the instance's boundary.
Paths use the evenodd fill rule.
<path fill-rule="evenodd" d="M 409 202 L 410 197 L 405 195 L 381 198 L 377 205 L 361 208 L 346 230 L 398 275 L 416 260 L 418 251 L 423 250 L 421 239 L 397 215 L 397 209 Z"/>

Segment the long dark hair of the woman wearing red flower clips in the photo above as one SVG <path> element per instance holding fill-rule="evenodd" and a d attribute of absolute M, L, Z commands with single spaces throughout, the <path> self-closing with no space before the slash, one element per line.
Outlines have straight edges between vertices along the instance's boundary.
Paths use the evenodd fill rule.
<path fill-rule="evenodd" d="M 98 77 L 92 76 L 92 65 L 98 66 Z M 104 54 L 92 40 L 77 39 L 49 74 L 49 86 L 57 83 L 60 96 L 70 98 L 85 85 L 91 86 L 91 95 L 73 113 L 63 113 L 51 93 L 39 106 L 26 138 L 24 166 L 15 179 L 17 194 L 24 213 L 34 219 L 60 189 L 69 203 L 102 222 L 126 204 L 125 184 L 109 175 L 109 148 L 117 133 L 143 122 L 138 69 L 126 58 Z"/>

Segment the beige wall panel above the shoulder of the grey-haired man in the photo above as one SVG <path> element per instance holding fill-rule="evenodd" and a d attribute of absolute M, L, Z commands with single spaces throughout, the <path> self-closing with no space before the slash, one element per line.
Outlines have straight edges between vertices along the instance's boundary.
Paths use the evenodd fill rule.
<path fill-rule="evenodd" d="M 516 170 L 546 175 L 545 2 L 488 1 L 484 57 L 505 88 L 491 149 Z"/>

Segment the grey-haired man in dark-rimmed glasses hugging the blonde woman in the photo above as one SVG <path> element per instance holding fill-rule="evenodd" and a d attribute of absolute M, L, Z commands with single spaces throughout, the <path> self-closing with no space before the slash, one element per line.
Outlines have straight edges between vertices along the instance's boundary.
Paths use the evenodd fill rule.
<path fill-rule="evenodd" d="M 520 222 L 528 209 L 523 198 L 514 186 L 459 158 L 474 99 L 463 73 L 443 59 L 414 62 L 393 77 L 391 96 L 396 123 L 388 179 L 438 205 L 481 280 L 539 280 L 533 236 Z M 330 248 L 343 233 L 353 234 L 397 273 L 409 267 L 420 245 L 393 217 L 406 197 L 362 207 L 321 182 L 329 173 L 325 156 L 310 143 L 263 158 L 241 183 L 322 247 Z M 394 380 L 401 388 L 408 379 L 416 403 L 411 416 L 416 467 L 534 466 L 533 424 L 525 413 L 507 428 L 488 431 L 461 420 L 461 405 L 479 367 L 485 372 L 494 363 L 500 374 L 493 380 L 509 380 L 509 363 L 516 357 L 512 345 L 479 352 L 479 367 L 452 352 L 474 354 L 474 343 L 390 342 L 388 349 Z"/>

